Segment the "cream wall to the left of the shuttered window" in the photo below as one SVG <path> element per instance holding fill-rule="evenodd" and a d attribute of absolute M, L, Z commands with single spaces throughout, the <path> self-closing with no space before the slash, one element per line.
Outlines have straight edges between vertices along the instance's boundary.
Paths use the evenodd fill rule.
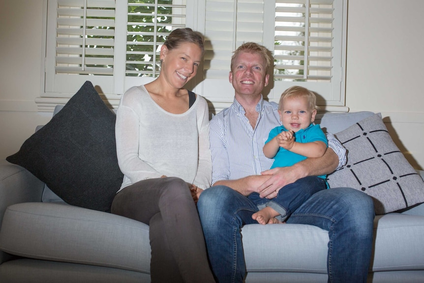
<path fill-rule="evenodd" d="M 15 153 L 51 113 L 38 113 L 43 0 L 0 0 L 0 159 Z M 7 27 L 7 29 L 6 29 Z"/>

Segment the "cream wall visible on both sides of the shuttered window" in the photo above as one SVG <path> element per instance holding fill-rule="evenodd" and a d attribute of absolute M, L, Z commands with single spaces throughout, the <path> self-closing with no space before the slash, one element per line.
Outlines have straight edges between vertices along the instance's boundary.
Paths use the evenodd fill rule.
<path fill-rule="evenodd" d="M 381 112 L 418 169 L 424 168 L 423 12 L 422 0 L 350 0 L 348 6 L 346 106 Z M 42 16 L 43 0 L 0 0 L 0 159 L 51 118 L 34 103 Z"/>

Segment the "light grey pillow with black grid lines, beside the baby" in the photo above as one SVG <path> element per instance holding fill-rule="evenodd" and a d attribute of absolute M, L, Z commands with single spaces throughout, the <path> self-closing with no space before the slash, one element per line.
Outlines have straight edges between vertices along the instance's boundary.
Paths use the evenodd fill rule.
<path fill-rule="evenodd" d="M 376 214 L 424 202 L 424 182 L 394 144 L 380 115 L 363 119 L 335 136 L 347 164 L 328 176 L 331 188 L 359 189 L 374 200 Z"/>

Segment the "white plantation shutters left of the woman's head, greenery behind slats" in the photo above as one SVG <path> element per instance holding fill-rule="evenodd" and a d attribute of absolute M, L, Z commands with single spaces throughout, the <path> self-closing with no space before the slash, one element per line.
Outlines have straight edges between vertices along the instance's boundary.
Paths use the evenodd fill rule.
<path fill-rule="evenodd" d="M 66 102 L 86 80 L 117 105 L 119 94 L 158 76 L 159 48 L 187 18 L 186 0 L 47 3 L 45 81 L 36 100 L 41 110 Z"/>

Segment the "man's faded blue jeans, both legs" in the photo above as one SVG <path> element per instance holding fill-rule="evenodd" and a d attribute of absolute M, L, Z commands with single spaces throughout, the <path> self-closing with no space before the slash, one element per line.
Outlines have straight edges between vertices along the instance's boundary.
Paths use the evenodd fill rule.
<path fill-rule="evenodd" d="M 246 275 L 241 227 L 257 223 L 258 207 L 239 192 L 215 186 L 197 203 L 212 272 L 217 282 L 242 282 Z M 325 189 L 295 210 L 287 223 L 318 226 L 329 231 L 328 282 L 366 282 L 371 258 L 374 205 L 365 193 Z M 279 225 L 279 224 L 274 224 Z"/>

